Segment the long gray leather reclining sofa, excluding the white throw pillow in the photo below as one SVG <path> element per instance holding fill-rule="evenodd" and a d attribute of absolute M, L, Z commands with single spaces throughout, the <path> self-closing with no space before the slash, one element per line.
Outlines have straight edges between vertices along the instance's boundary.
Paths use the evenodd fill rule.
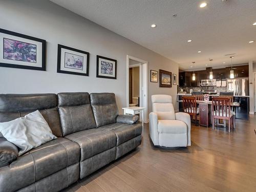
<path fill-rule="evenodd" d="M 113 93 L 0 94 L 0 122 L 39 110 L 57 139 L 18 156 L 0 134 L 0 191 L 59 191 L 141 143 L 137 116 Z"/>

